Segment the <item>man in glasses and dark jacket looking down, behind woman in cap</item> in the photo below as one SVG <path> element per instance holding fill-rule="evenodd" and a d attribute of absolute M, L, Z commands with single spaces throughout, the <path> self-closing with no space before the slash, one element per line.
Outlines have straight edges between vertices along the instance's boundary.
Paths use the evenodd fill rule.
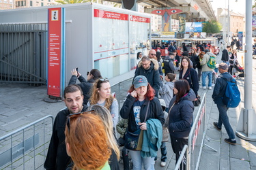
<path fill-rule="evenodd" d="M 150 50 L 152 51 L 152 50 Z M 153 52 L 153 51 L 152 51 Z M 155 51 L 156 52 L 156 51 Z M 149 53 L 150 55 L 153 53 Z M 154 54 L 153 54 L 154 55 Z M 161 85 L 160 74 L 158 71 L 158 62 L 154 59 L 150 59 L 148 56 L 143 56 L 138 64 L 138 67 L 134 73 L 134 78 L 137 75 L 144 75 L 147 78 L 147 82 L 154 88 L 156 97 L 158 97 L 158 90 Z M 132 80 L 133 82 L 133 80 Z"/>

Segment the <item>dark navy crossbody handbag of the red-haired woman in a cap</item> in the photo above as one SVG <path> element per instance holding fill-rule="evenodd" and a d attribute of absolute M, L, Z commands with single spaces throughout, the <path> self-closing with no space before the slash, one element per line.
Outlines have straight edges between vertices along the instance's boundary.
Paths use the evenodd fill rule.
<path fill-rule="evenodd" d="M 145 120 L 147 118 L 147 112 L 148 108 L 150 106 L 150 101 L 147 103 L 147 111 L 145 114 Z M 133 133 L 128 131 L 128 128 L 126 129 L 126 133 L 124 133 L 124 146 L 128 150 L 141 150 L 143 143 L 143 131 L 141 129 L 138 129 L 137 131 L 134 131 Z"/>

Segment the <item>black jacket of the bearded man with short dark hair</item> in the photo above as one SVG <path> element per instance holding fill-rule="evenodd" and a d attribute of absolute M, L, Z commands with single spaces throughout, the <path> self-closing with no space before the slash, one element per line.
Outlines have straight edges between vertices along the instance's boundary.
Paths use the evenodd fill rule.
<path fill-rule="evenodd" d="M 87 105 L 83 105 L 82 112 L 85 112 Z M 70 114 L 69 110 L 61 110 L 53 124 L 53 134 L 48 148 L 46 160 L 44 162 L 45 169 L 59 169 L 63 170 L 68 167 L 71 162 L 70 156 L 66 152 L 65 143 L 65 128 L 67 116 Z"/>

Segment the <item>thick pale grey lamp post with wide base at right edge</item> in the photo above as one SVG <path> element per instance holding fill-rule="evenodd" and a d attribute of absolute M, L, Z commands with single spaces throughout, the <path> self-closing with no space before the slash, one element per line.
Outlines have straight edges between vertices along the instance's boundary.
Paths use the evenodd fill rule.
<path fill-rule="evenodd" d="M 255 109 L 252 107 L 253 43 L 252 43 L 252 0 L 246 0 L 246 45 L 244 62 L 244 107 L 240 112 L 236 135 L 242 139 L 256 141 Z"/>

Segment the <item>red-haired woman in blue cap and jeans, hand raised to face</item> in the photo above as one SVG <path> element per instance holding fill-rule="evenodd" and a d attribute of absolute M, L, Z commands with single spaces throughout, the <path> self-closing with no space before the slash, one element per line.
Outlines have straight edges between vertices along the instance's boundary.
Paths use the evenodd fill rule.
<path fill-rule="evenodd" d="M 120 110 L 121 117 L 128 119 L 128 131 L 135 133 L 143 130 L 150 133 L 152 129 L 150 129 L 151 126 L 147 126 L 147 121 L 153 119 L 158 124 L 155 130 L 160 130 L 159 133 L 162 134 L 161 127 L 165 123 L 164 114 L 160 101 L 154 97 L 154 89 L 147 82 L 147 78 L 143 75 L 137 75 L 128 92 L 129 95 Z M 147 145 L 150 148 L 152 145 L 150 145 L 149 141 L 150 137 L 148 139 L 145 138 L 145 133 L 143 133 L 143 146 Z M 161 143 L 155 144 L 160 148 Z M 133 169 L 141 170 L 142 164 L 144 169 L 154 169 L 154 156 L 157 156 L 157 153 L 152 149 L 150 153 L 152 156 L 141 156 L 142 152 L 143 150 L 130 150 L 129 154 L 132 157 Z"/>

